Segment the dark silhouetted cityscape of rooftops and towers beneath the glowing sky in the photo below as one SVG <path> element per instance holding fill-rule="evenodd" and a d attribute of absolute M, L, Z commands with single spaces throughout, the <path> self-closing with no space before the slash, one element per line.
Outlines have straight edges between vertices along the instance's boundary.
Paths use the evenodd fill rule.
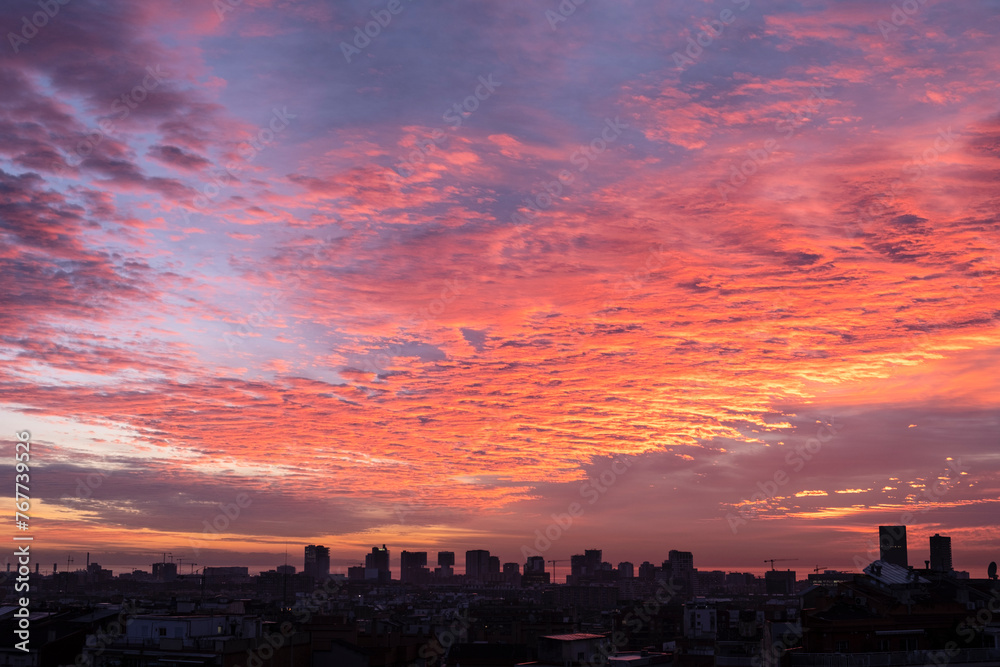
<path fill-rule="evenodd" d="M 315 561 L 257 575 L 161 567 L 111 578 L 98 566 L 30 577 L 29 653 L 11 639 L 20 619 L 8 577 L 0 665 L 1000 665 L 1000 586 L 954 572 L 940 537 L 926 568 L 880 559 L 808 582 L 788 570 L 699 571 L 681 551 L 613 567 L 599 549 L 571 559 L 564 585 L 550 583 L 543 556 L 498 565 L 485 550 L 466 554 L 466 574 L 451 552 L 431 570 L 429 554 L 405 551 L 397 581 L 383 574 L 384 545 L 352 567 L 355 579 L 323 577 Z"/>

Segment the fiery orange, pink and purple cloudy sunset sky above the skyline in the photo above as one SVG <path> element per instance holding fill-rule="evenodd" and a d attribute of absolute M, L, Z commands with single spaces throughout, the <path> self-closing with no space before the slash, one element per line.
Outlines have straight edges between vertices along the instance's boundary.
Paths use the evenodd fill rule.
<path fill-rule="evenodd" d="M 804 576 L 901 523 L 911 564 L 1000 560 L 1000 2 L 18 0 L 0 33 L 43 572 Z"/>

